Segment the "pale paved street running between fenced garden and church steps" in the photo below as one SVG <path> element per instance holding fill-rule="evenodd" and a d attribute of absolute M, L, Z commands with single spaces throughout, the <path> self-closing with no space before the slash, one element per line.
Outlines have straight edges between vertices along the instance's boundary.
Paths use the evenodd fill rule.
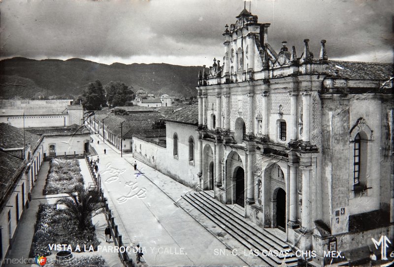
<path fill-rule="evenodd" d="M 109 199 L 115 223 L 119 225 L 126 244 L 130 242 L 135 246 L 139 243 L 145 249 L 143 257 L 149 266 L 245 265 L 174 204 L 174 200 L 190 190 L 188 187 L 137 161 L 138 170 L 143 175 L 139 174 L 130 164 L 135 161 L 131 154 L 124 155 L 122 159 L 102 139 L 97 144 L 97 135 L 92 137 L 92 146 L 100 158 L 99 173 L 104 196 Z M 164 194 L 152 182 L 155 180 L 161 181 L 159 186 L 165 185 L 166 192 L 170 194 Z M 215 249 L 226 249 L 226 253 L 215 255 Z"/>

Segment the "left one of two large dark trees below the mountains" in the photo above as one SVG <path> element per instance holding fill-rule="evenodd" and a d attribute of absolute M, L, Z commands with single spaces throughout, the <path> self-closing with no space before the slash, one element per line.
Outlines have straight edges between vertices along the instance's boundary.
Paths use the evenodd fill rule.
<path fill-rule="evenodd" d="M 96 80 L 95 82 L 89 83 L 82 95 L 78 96 L 75 101 L 78 103 L 81 101 L 82 105 L 87 110 L 99 110 L 100 107 L 106 103 L 101 82 Z"/>

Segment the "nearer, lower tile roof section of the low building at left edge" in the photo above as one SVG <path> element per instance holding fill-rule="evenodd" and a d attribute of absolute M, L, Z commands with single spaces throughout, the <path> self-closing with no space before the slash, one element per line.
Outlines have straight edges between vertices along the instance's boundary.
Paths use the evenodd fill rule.
<path fill-rule="evenodd" d="M 13 182 L 12 178 L 25 167 L 24 160 L 0 150 L 0 200 Z"/>

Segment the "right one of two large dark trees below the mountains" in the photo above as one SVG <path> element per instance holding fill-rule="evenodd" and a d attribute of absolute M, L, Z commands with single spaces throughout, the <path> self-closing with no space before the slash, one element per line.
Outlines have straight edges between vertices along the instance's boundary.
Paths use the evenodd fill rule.
<path fill-rule="evenodd" d="M 135 94 L 131 90 L 132 86 L 128 86 L 121 81 L 111 81 L 105 85 L 107 92 L 107 101 L 112 107 L 124 106 L 126 102 L 134 100 Z"/>

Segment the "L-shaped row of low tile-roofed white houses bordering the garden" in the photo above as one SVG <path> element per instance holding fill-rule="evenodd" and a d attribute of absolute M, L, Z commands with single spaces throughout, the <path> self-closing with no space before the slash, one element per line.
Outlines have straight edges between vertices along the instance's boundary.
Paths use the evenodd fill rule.
<path fill-rule="evenodd" d="M 24 131 L 0 123 L 0 263 L 13 249 L 43 161 L 82 157 L 90 149 L 89 140 L 90 131 L 76 124 Z"/>

